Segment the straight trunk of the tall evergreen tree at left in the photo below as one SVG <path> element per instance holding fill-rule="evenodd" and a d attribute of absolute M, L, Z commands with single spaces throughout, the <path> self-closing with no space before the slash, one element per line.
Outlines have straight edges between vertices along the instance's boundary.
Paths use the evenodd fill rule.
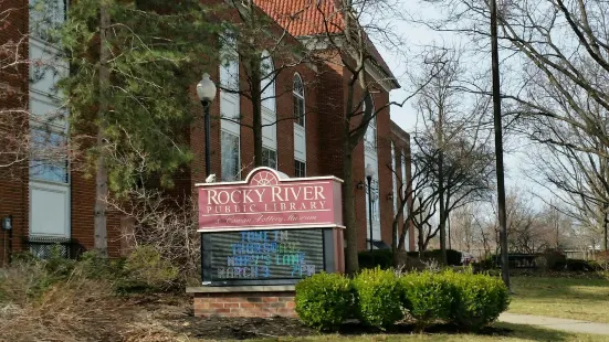
<path fill-rule="evenodd" d="M 108 29 L 109 29 L 109 12 L 107 3 L 102 1 L 99 9 L 99 109 L 97 111 L 97 172 L 95 175 L 95 207 L 94 207 L 94 247 L 99 255 L 107 257 L 108 239 L 106 225 L 106 200 L 108 196 L 108 171 L 104 160 L 105 140 L 105 121 L 106 111 L 108 109 L 108 86 L 109 86 L 109 47 L 108 47 Z"/>

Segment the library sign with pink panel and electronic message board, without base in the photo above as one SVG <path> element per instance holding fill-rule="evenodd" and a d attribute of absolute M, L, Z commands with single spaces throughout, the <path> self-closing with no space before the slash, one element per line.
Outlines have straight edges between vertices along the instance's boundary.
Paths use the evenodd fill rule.
<path fill-rule="evenodd" d="M 342 271 L 340 185 L 269 168 L 242 182 L 198 184 L 203 284 L 294 284 Z"/>

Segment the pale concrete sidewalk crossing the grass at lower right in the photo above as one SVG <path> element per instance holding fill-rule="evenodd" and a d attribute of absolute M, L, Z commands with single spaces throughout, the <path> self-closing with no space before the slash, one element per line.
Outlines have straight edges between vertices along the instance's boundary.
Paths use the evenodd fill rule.
<path fill-rule="evenodd" d="M 569 320 L 564 318 L 544 317 L 544 316 L 531 316 L 518 313 L 502 313 L 498 318 L 500 322 L 514 323 L 514 324 L 528 324 L 540 325 L 548 329 L 582 332 L 582 333 L 596 333 L 609 335 L 609 324 L 588 322 L 580 320 Z"/>

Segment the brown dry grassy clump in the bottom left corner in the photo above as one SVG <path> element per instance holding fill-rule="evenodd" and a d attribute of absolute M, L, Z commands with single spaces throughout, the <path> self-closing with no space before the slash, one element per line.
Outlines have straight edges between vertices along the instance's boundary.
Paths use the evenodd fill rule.
<path fill-rule="evenodd" d="M 3 303 L 2 341 L 120 341 L 129 308 L 104 281 L 72 279 L 53 285 L 40 298 Z"/>

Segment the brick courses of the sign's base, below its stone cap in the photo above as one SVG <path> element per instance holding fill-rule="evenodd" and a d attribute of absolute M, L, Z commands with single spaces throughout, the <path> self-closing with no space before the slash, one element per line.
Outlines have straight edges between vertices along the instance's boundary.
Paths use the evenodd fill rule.
<path fill-rule="evenodd" d="M 295 318 L 294 292 L 195 293 L 197 317 Z"/>

